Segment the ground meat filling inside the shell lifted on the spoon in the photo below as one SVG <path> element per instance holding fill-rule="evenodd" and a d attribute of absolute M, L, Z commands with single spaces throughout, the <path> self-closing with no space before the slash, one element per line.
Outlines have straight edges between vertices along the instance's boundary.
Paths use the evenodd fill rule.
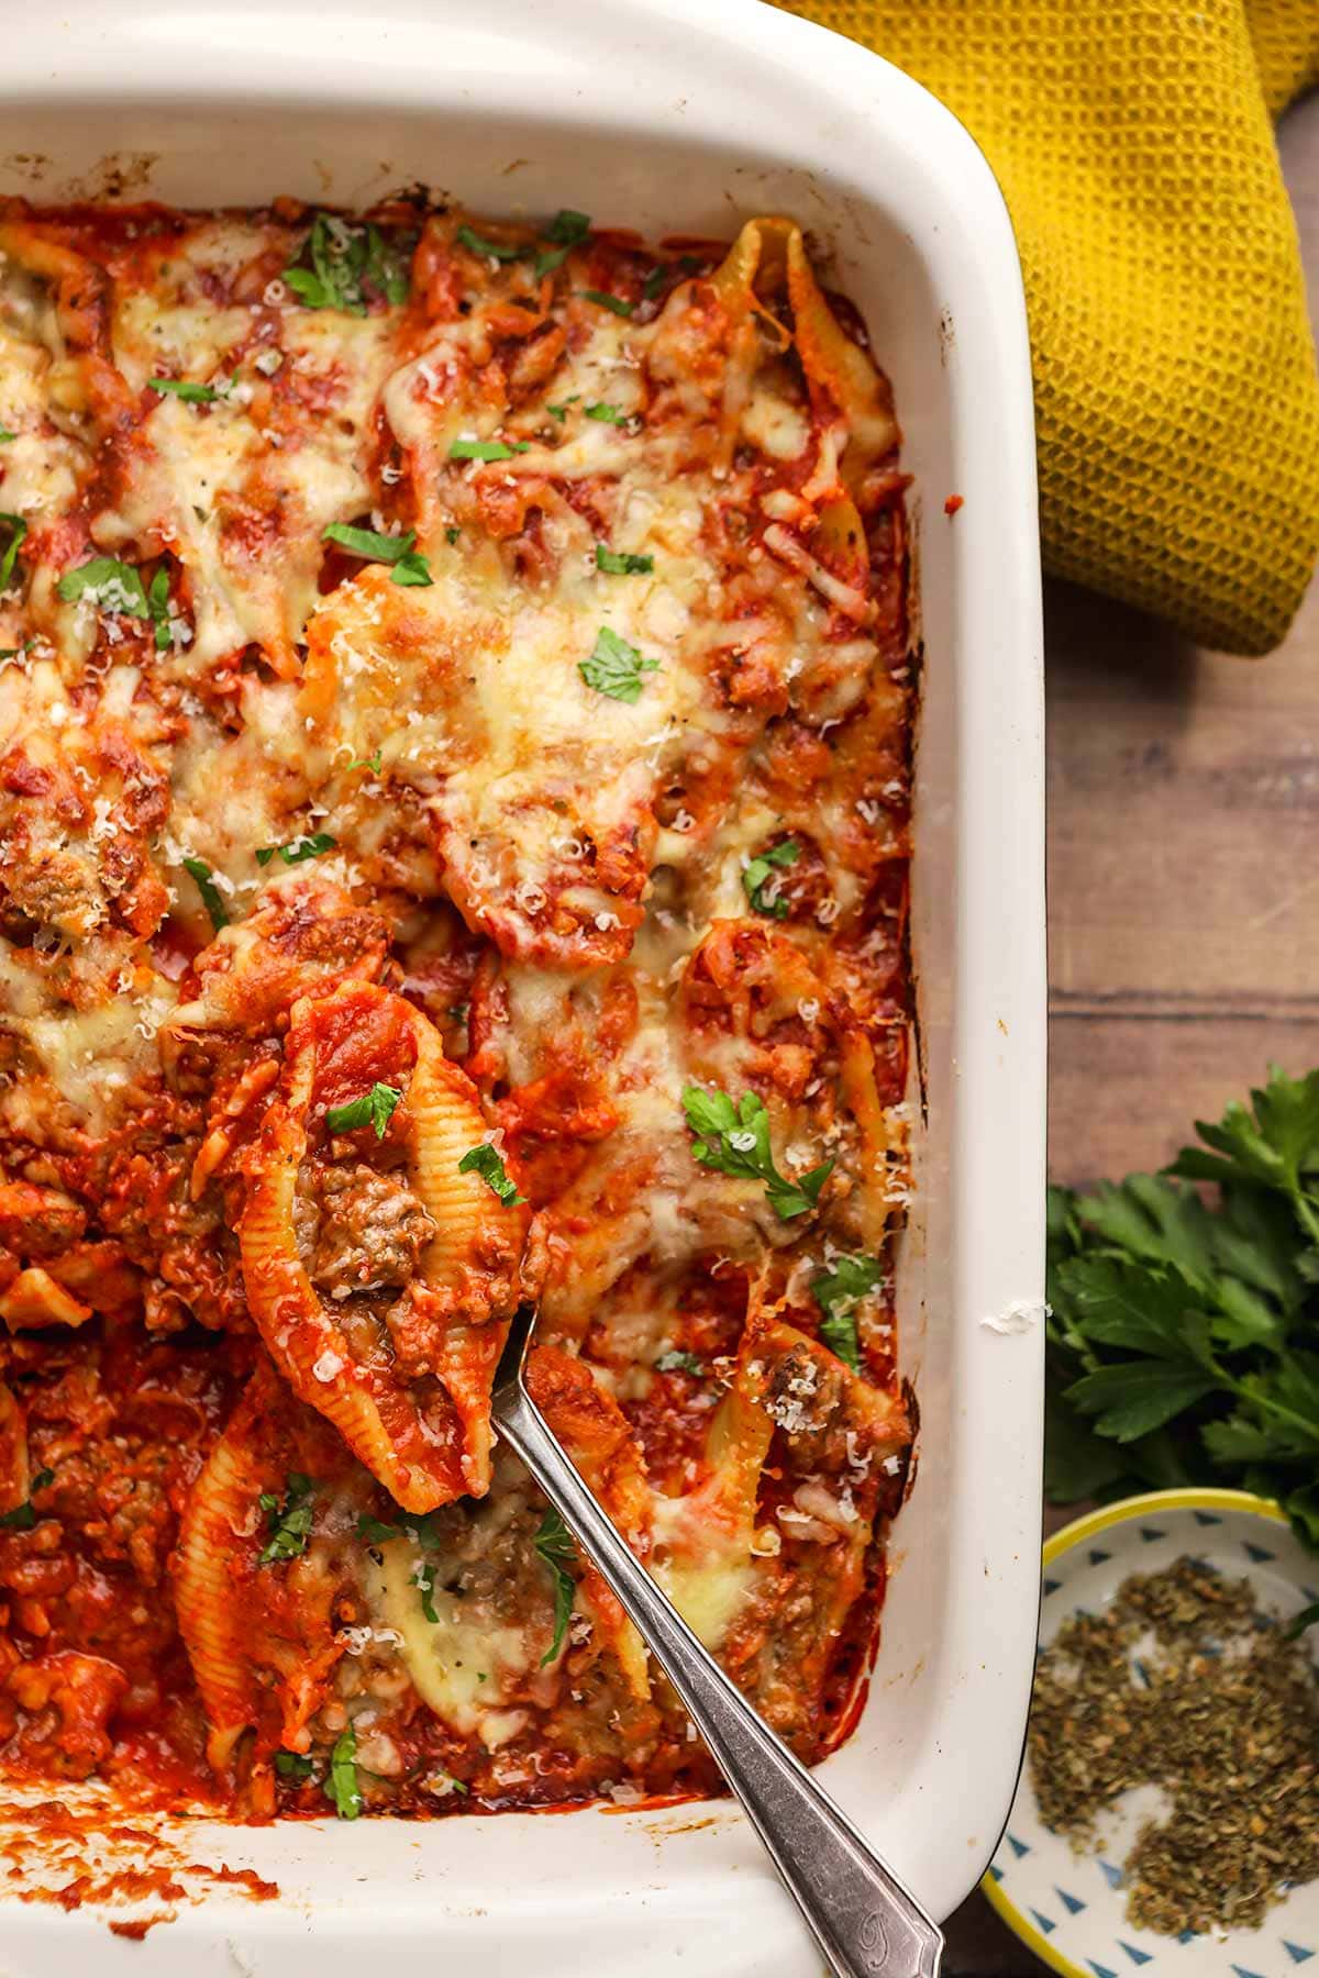
<path fill-rule="evenodd" d="M 407 1183 L 366 1161 L 326 1167 L 316 1183 L 314 1201 L 299 1191 L 299 1248 L 312 1284 L 336 1300 L 409 1284 L 439 1232 Z"/>

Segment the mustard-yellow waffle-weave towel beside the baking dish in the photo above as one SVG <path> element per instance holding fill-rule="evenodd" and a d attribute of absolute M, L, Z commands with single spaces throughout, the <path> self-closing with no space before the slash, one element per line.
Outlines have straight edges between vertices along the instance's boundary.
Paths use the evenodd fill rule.
<path fill-rule="evenodd" d="M 1319 554 L 1319 382 L 1272 117 L 1319 0 L 787 0 L 925 83 L 999 176 L 1044 564 L 1268 653 Z"/>

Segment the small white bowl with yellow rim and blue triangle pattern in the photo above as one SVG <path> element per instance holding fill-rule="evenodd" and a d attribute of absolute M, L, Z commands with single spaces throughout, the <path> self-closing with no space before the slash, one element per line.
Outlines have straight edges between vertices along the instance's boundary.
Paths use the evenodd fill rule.
<path fill-rule="evenodd" d="M 1103 1608 L 1131 1573 L 1157 1573 L 1187 1553 L 1226 1578 L 1252 1580 L 1260 1608 L 1281 1620 L 1319 1600 L 1319 1559 L 1275 1503 L 1236 1489 L 1163 1489 L 1054 1533 L 1044 1547 L 1040 1644 L 1068 1616 Z M 1101 1822 L 1105 1843 L 1076 1855 L 1040 1824 L 1022 1768 L 985 1895 L 1064 1978 L 1295 1978 L 1311 1958 L 1319 1978 L 1319 1881 L 1291 1889 L 1258 1931 L 1159 1936 L 1131 1927 L 1121 1859 L 1155 1812 L 1151 1802 L 1147 1788 L 1131 1794 L 1129 1812 Z"/>

